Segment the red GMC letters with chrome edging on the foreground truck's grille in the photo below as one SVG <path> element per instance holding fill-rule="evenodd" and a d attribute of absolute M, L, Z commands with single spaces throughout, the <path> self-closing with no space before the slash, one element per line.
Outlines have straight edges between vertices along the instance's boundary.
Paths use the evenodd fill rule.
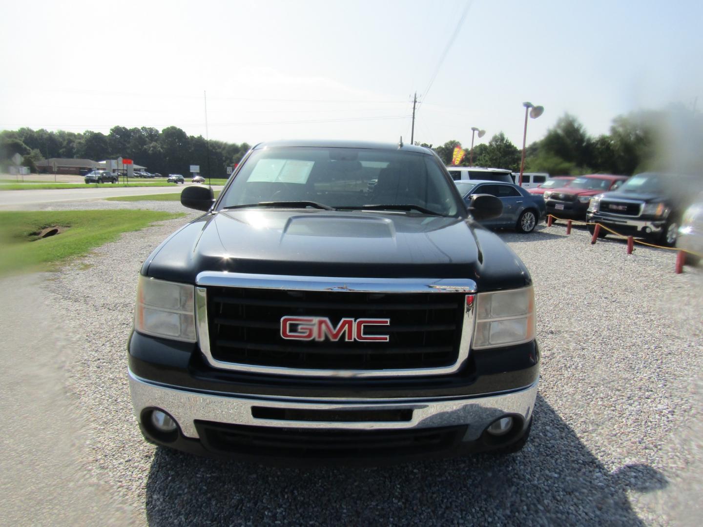
<path fill-rule="evenodd" d="M 390 323 L 389 318 L 342 318 L 334 327 L 327 317 L 285 316 L 280 319 L 280 336 L 288 340 L 387 342 L 388 335 L 367 335 L 364 329 Z"/>

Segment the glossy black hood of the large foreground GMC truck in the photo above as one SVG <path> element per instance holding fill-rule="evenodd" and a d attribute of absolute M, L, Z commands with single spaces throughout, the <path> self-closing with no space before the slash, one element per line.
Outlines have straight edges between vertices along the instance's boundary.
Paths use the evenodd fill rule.
<path fill-rule="evenodd" d="M 531 283 L 524 264 L 472 220 L 415 214 L 246 209 L 188 223 L 142 274 L 194 283 L 202 271 L 363 278 L 471 278 L 479 290 Z"/>

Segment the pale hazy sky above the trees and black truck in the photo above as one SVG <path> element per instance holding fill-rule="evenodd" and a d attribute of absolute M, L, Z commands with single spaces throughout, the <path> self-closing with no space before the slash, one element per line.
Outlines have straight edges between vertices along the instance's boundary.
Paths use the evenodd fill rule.
<path fill-rule="evenodd" d="M 0 19 L 0 129 L 176 125 L 209 137 L 522 143 L 522 102 L 591 134 L 616 115 L 703 107 L 703 2 L 14 1 Z M 697 99 L 697 103 L 696 103 Z"/>

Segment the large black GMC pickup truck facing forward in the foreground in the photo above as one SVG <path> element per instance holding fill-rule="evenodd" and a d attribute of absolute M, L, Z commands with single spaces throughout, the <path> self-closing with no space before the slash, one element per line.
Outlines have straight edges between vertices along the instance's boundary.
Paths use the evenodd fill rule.
<path fill-rule="evenodd" d="M 368 182 L 376 180 L 369 186 Z M 377 463 L 520 450 L 539 351 L 520 259 L 412 145 L 263 143 L 138 280 L 129 383 L 148 441 Z"/>

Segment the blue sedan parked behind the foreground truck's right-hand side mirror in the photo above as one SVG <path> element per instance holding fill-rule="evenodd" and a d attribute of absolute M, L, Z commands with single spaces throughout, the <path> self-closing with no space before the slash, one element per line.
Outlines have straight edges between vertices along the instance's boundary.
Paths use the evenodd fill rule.
<path fill-rule="evenodd" d="M 519 233 L 531 233 L 546 216 L 544 200 L 514 183 L 498 181 L 454 181 L 468 205 L 476 194 L 496 196 L 503 203 L 503 214 L 481 221 L 486 227 L 514 228 Z"/>

